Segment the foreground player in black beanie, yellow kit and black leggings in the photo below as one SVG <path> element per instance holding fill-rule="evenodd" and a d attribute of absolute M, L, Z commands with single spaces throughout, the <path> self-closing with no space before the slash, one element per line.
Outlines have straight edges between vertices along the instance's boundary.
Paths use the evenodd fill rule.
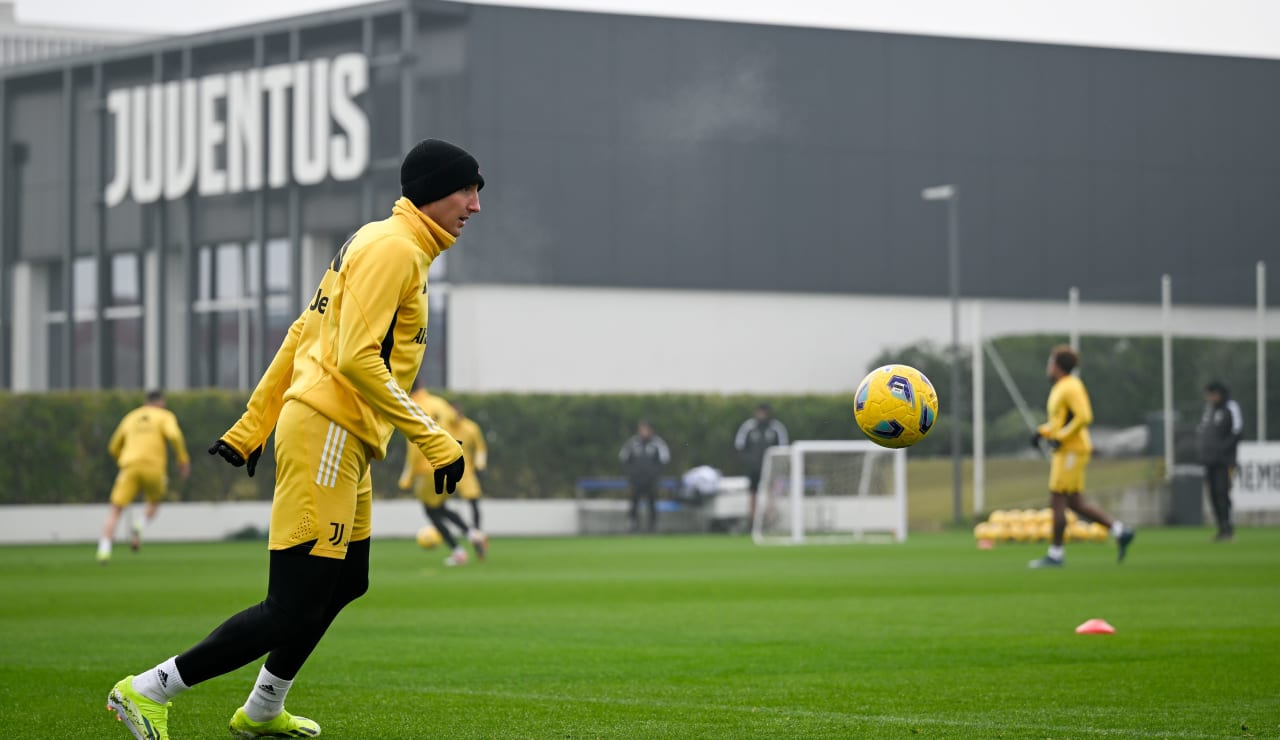
<path fill-rule="evenodd" d="M 236 737 L 314 737 L 320 726 L 284 711 L 303 662 L 338 612 L 369 589 L 371 460 L 399 430 L 453 492 L 462 448 L 408 397 L 426 346 L 431 261 L 480 211 L 484 178 L 470 154 L 426 140 L 401 165 L 390 215 L 338 250 L 248 401 L 211 454 L 253 475 L 275 430 L 266 598 L 108 695 L 134 737 L 168 737 L 169 702 L 266 656 L 230 721 Z M 193 734 L 207 735 L 209 732 Z"/>

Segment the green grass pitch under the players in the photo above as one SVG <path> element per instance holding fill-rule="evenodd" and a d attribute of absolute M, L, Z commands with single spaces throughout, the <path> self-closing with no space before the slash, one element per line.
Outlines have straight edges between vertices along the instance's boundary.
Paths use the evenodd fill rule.
<path fill-rule="evenodd" d="M 157 525 L 160 526 L 160 525 Z M 288 707 L 324 737 L 1276 737 L 1280 530 L 1114 548 L 737 536 L 374 544 Z M 4 737 L 127 737 L 111 684 L 262 597 L 262 543 L 0 549 Z M 1076 635 L 1091 617 L 1115 635 Z M 221 737 L 257 664 L 175 700 Z"/>

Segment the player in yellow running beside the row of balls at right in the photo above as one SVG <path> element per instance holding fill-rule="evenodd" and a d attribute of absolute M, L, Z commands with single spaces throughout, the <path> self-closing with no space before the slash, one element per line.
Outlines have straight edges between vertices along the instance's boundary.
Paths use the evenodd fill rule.
<path fill-rule="evenodd" d="M 1120 561 L 1124 561 L 1133 542 L 1134 531 L 1084 501 L 1084 469 L 1089 465 L 1093 443 L 1089 424 L 1093 424 L 1093 406 L 1084 383 L 1074 374 L 1080 357 L 1068 344 L 1053 347 L 1046 373 L 1053 383 L 1048 393 L 1048 421 L 1032 433 L 1032 447 L 1047 443 L 1053 451 L 1048 472 L 1048 498 L 1053 510 L 1053 544 L 1048 554 L 1032 561 L 1033 568 L 1061 567 L 1066 562 L 1062 535 L 1066 533 L 1066 510 L 1096 521 L 1111 530 L 1116 539 Z"/>

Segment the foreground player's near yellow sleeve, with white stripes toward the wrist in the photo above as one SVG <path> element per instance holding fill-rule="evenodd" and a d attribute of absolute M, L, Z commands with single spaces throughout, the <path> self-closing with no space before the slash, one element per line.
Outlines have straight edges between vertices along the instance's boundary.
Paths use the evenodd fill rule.
<path fill-rule="evenodd" d="M 344 271 L 338 321 L 338 371 L 361 397 L 407 437 L 433 467 L 445 467 L 462 448 L 422 411 L 392 378 L 381 357 L 381 342 L 406 300 L 417 300 L 416 246 L 401 242 L 366 250 L 360 264 Z"/>

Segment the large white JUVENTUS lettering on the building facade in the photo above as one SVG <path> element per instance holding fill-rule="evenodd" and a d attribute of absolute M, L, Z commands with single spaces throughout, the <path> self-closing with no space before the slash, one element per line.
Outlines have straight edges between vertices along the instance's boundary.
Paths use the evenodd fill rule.
<path fill-rule="evenodd" d="M 104 200 L 356 179 L 369 166 L 369 118 L 356 102 L 367 88 L 369 59 L 342 54 L 113 90 L 115 170 Z"/>

